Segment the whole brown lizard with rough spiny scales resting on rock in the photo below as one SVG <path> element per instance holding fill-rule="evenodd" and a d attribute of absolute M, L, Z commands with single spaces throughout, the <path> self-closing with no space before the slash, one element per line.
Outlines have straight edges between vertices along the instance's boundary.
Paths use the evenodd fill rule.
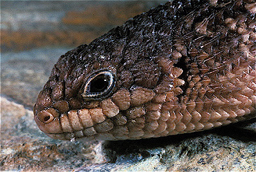
<path fill-rule="evenodd" d="M 255 117 L 255 13 L 253 0 L 191 0 L 131 18 L 61 55 L 36 124 L 61 140 L 136 140 Z"/>

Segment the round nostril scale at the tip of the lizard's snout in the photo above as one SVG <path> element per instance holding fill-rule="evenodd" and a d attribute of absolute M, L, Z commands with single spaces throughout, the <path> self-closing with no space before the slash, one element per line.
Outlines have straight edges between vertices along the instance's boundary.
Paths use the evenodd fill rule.
<path fill-rule="evenodd" d="M 47 110 L 43 110 L 37 113 L 37 118 L 41 122 L 44 122 L 47 124 L 49 122 L 52 122 L 52 120 L 54 120 L 55 117 L 58 117 L 58 115 L 59 114 L 56 110 L 54 110 L 53 108 L 49 108 Z"/>

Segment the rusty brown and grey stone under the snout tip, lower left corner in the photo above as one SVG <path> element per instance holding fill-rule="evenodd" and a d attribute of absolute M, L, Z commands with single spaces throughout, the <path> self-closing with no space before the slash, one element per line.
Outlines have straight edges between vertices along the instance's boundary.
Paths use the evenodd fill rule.
<path fill-rule="evenodd" d="M 1 97 L 1 171 L 71 171 L 102 163 L 101 145 L 52 140 L 36 126 L 33 111 Z"/>

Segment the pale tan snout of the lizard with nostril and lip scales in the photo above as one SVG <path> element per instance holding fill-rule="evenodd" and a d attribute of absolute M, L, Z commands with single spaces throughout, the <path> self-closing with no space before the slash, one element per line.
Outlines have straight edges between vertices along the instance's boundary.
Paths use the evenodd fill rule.
<path fill-rule="evenodd" d="M 114 127 L 113 117 L 118 107 L 107 99 L 95 108 L 69 110 L 60 113 L 56 108 L 47 108 L 35 113 L 35 122 L 47 136 L 60 140 L 116 140 L 109 133 Z"/>

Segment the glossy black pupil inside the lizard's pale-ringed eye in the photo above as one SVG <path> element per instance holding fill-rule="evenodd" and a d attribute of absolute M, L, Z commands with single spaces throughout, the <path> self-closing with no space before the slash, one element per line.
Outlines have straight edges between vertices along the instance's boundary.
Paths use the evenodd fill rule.
<path fill-rule="evenodd" d="M 90 83 L 90 92 L 103 92 L 108 88 L 109 79 L 105 75 L 99 75 Z"/>

